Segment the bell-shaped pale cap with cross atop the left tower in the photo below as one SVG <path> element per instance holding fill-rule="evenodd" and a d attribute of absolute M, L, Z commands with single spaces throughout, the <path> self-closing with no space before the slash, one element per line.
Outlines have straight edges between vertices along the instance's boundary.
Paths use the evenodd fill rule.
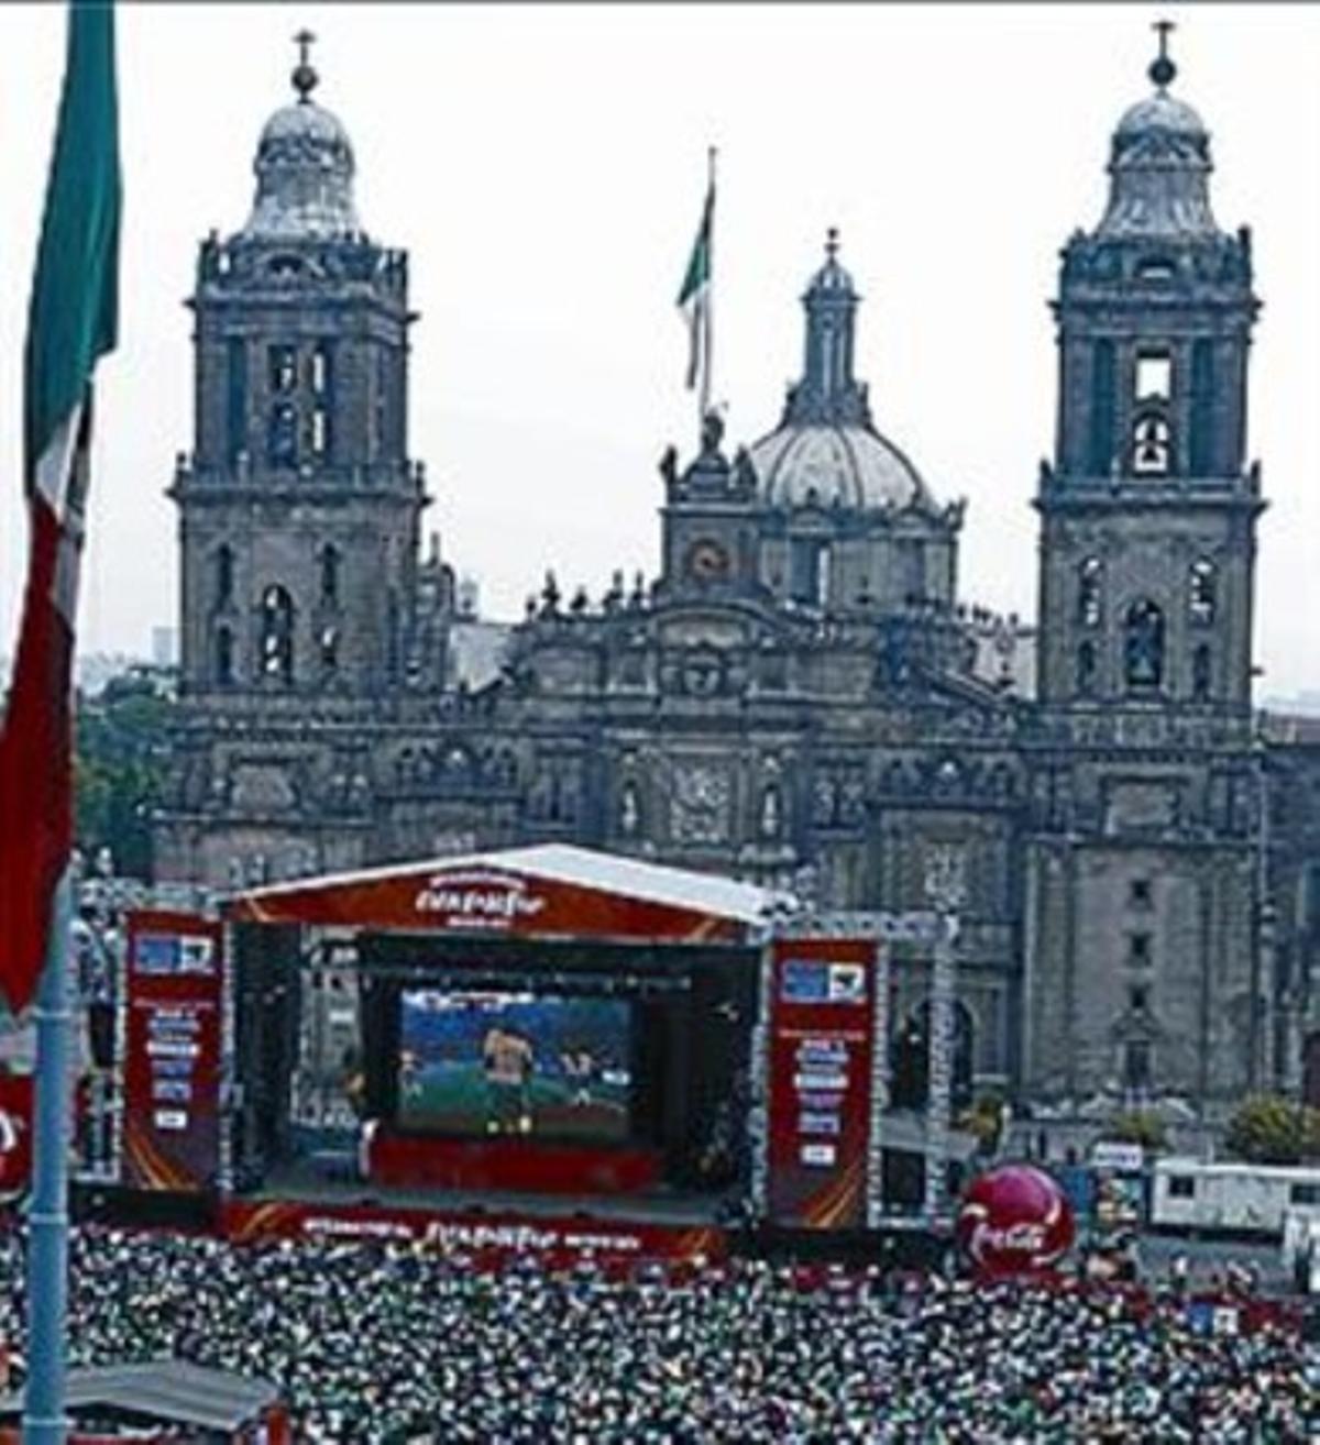
<path fill-rule="evenodd" d="M 353 146 L 338 118 L 311 98 L 318 77 L 307 61 L 309 40 L 299 36 L 298 100 L 266 121 L 257 142 L 257 194 L 243 234 L 259 240 L 361 236 L 353 207 Z"/>

